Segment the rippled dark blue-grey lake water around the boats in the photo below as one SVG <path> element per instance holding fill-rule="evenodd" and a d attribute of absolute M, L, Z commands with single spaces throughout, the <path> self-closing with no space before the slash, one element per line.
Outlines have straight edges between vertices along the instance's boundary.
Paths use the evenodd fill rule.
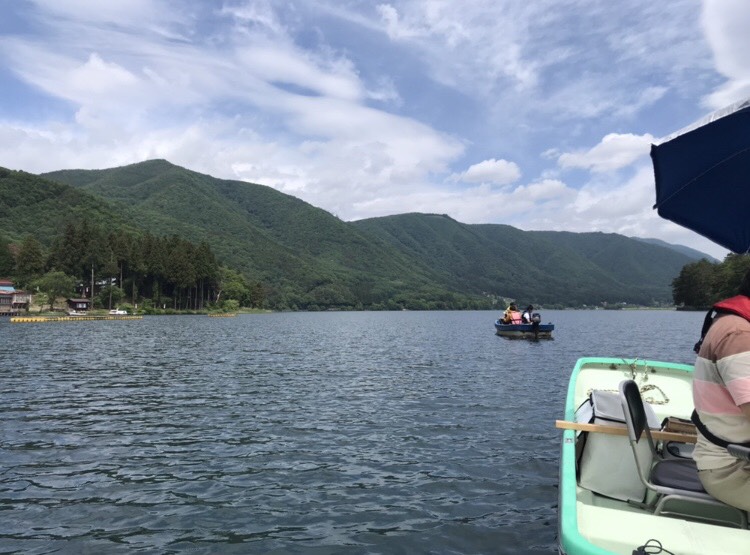
<path fill-rule="evenodd" d="M 692 363 L 702 313 L 0 321 L 0 553 L 554 553 L 582 356 Z"/>

